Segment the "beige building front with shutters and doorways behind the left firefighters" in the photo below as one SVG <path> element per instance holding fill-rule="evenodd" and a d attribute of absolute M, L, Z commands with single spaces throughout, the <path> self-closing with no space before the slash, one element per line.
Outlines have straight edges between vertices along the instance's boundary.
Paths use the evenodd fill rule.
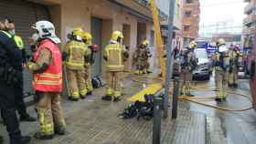
<path fill-rule="evenodd" d="M 73 27 L 81 26 L 91 32 L 93 43 L 101 48 L 92 66 L 92 76 L 104 75 L 102 50 L 109 43 L 113 30 L 123 31 L 123 43 L 129 47 L 131 56 L 144 39 L 155 45 L 152 15 L 145 0 L 0 0 L 0 12 L 5 14 L 0 15 L 0 19 L 14 20 L 16 34 L 23 37 L 28 54 L 31 53 L 28 46 L 28 38 L 33 33 L 31 25 L 38 20 L 53 22 L 62 49 Z M 132 58 L 125 65 L 126 70 L 131 70 Z M 31 90 L 31 75 L 26 71 L 25 91 Z"/>

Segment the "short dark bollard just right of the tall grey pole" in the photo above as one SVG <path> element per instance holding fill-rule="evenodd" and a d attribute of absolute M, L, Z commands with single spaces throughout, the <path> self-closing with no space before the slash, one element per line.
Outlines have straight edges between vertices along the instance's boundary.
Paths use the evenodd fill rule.
<path fill-rule="evenodd" d="M 175 77 L 174 79 L 174 92 L 173 92 L 173 108 L 172 108 L 172 118 L 175 119 L 177 115 L 177 96 L 179 94 L 178 86 L 179 86 L 179 77 Z"/>

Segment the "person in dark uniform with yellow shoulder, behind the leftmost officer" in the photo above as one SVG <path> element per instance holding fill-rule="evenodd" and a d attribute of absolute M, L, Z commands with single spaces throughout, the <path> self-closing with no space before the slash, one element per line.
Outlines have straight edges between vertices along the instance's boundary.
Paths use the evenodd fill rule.
<path fill-rule="evenodd" d="M 25 65 L 26 59 L 27 59 L 23 40 L 22 40 L 21 36 L 16 35 L 14 21 L 12 21 L 9 18 L 6 18 L 5 22 L 12 25 L 12 29 L 9 30 L 9 34 L 14 38 L 16 46 L 18 47 L 18 49 L 20 50 L 20 53 L 22 55 L 22 63 L 20 63 L 20 68 L 19 68 L 19 70 L 22 73 L 23 66 Z M 20 81 L 15 85 L 15 88 L 16 88 L 16 91 L 15 91 L 15 93 L 16 93 L 16 109 L 20 116 L 19 120 L 20 121 L 31 121 L 31 122 L 37 121 L 36 118 L 32 118 L 27 114 L 27 108 L 25 106 L 24 97 L 23 97 L 24 96 L 23 95 L 23 77 L 20 78 Z M 4 120 L 4 123 L 6 123 L 5 118 L 3 117 L 3 112 L 1 112 L 1 116 Z"/>

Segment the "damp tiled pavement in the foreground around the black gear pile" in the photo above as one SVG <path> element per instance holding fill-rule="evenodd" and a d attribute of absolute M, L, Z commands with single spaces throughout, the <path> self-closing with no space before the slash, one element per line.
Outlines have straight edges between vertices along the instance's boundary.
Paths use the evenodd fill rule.
<path fill-rule="evenodd" d="M 52 140 L 32 139 L 32 144 L 151 144 L 152 143 L 152 120 L 137 121 L 133 119 L 119 119 L 117 115 L 127 107 L 126 98 L 131 97 L 139 91 L 142 84 L 134 83 L 126 79 L 125 96 L 119 103 L 102 101 L 104 88 L 94 91 L 94 96 L 69 102 L 64 100 L 63 108 L 67 120 L 67 134 L 57 136 Z M 162 143 L 163 144 L 204 144 L 206 132 L 206 117 L 197 112 L 189 111 L 184 105 L 187 102 L 180 102 L 178 117 L 172 120 L 170 117 L 162 121 Z M 29 108 L 33 113 L 34 108 Z M 171 113 L 169 114 L 171 116 Z M 23 134 L 33 136 L 38 130 L 37 123 L 22 123 Z M 0 125 L 1 135 L 7 137 L 5 128 Z"/>

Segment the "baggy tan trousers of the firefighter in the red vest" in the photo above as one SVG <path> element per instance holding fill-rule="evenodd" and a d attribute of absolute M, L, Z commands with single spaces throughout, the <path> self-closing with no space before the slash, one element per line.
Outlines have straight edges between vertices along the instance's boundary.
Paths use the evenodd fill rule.
<path fill-rule="evenodd" d="M 54 129 L 66 127 L 63 111 L 60 106 L 59 93 L 37 92 L 40 99 L 36 104 L 40 122 L 40 131 L 43 135 L 53 135 Z"/>

